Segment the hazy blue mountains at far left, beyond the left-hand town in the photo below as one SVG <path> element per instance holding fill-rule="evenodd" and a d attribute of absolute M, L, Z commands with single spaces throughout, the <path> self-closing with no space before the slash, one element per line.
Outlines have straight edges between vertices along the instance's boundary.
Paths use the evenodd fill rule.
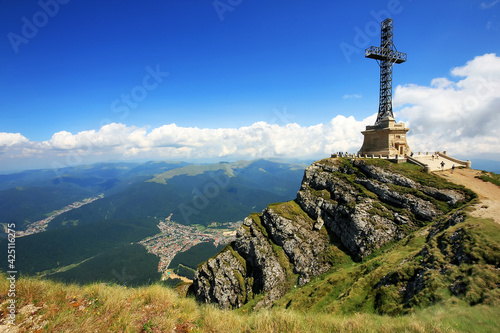
<path fill-rule="evenodd" d="M 118 193 L 157 173 L 187 163 L 100 163 L 64 169 L 29 170 L 0 175 L 0 223 L 28 222 L 47 217 L 75 201 L 98 194 Z"/>

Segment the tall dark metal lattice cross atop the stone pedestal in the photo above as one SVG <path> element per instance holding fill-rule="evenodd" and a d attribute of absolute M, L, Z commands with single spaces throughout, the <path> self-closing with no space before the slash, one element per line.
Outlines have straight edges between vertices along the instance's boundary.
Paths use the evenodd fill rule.
<path fill-rule="evenodd" d="M 365 50 L 365 58 L 376 59 L 380 66 L 380 99 L 377 120 L 394 118 L 392 113 L 392 65 L 406 61 L 406 53 L 398 52 L 392 43 L 392 19 L 382 21 L 380 46 L 371 46 Z"/>

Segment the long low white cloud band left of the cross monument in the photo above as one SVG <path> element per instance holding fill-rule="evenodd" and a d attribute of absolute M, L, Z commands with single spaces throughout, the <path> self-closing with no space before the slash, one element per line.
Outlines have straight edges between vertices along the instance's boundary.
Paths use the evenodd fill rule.
<path fill-rule="evenodd" d="M 149 131 L 112 123 L 99 131 L 58 132 L 43 142 L 31 142 L 18 133 L 0 133 L 0 156 L 69 156 L 75 161 L 96 154 L 151 159 L 311 158 L 356 151 L 362 140 L 359 133 L 365 123 L 373 122 L 371 118 L 356 121 L 337 116 L 329 124 L 310 127 L 258 122 L 241 128 L 200 129 L 169 124 Z"/>

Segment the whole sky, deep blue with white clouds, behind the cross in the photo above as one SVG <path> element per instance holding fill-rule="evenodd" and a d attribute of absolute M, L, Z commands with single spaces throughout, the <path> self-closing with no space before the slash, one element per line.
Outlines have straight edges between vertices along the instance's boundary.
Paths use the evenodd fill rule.
<path fill-rule="evenodd" d="M 354 152 L 378 108 L 379 67 L 364 49 L 379 45 L 387 16 L 408 54 L 394 69 L 398 120 L 420 128 L 417 148 L 433 149 L 418 139 L 428 133 L 426 113 L 411 112 L 422 109 L 417 92 L 457 92 L 475 77 L 488 85 L 476 114 L 499 103 L 500 72 L 487 77 L 500 55 L 498 2 L 2 0 L 0 170 Z M 467 64 L 479 74 L 453 74 Z M 491 131 L 486 141 L 497 136 Z M 307 149 L 300 135 L 311 137 L 302 140 Z M 226 139 L 237 142 L 221 145 Z M 440 140 L 436 150 L 454 151 L 457 140 Z M 481 156 L 500 159 L 491 147 Z"/>

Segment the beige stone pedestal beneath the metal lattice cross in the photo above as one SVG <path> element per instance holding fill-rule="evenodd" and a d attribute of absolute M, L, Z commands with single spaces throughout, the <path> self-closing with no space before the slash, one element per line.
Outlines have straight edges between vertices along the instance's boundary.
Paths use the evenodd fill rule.
<path fill-rule="evenodd" d="M 377 125 L 366 126 L 366 130 L 361 132 L 364 141 L 358 154 L 369 157 L 410 155 L 411 149 L 406 142 L 406 133 L 409 130 L 404 123 L 396 123 L 392 117 L 383 118 Z"/>

